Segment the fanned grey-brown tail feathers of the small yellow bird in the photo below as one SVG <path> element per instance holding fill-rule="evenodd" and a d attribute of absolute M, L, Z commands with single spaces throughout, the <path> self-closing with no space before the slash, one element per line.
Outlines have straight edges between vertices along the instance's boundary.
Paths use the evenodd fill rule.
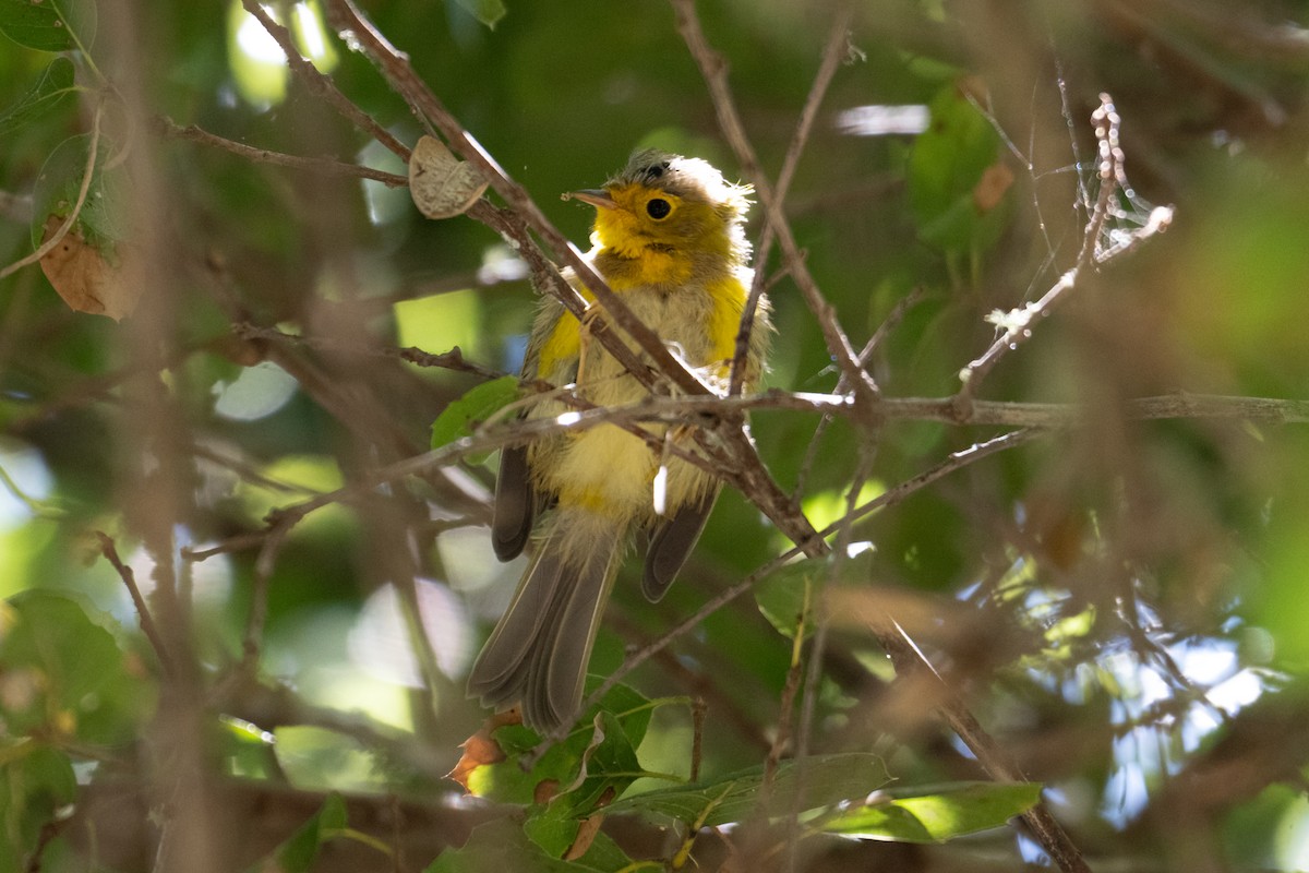
<path fill-rule="evenodd" d="M 558 508 L 545 525 L 531 565 L 473 665 L 469 694 L 491 707 L 521 702 L 529 726 L 552 730 L 577 715 L 626 530 L 575 507 Z"/>

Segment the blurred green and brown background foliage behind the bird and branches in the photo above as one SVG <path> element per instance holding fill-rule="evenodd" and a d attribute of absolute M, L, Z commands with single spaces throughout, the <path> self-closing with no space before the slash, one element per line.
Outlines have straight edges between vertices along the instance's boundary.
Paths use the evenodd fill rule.
<path fill-rule="evenodd" d="M 200 808 L 223 810 L 212 857 L 249 864 L 306 822 L 319 828 L 304 831 L 314 848 L 340 821 L 385 843 L 408 834 L 385 815 L 402 801 L 423 832 L 397 836 L 401 855 L 347 839 L 352 848 L 314 869 L 421 869 L 462 843 L 471 819 L 461 814 L 484 813 L 456 810 L 444 774 L 486 716 L 463 678 L 522 569 L 495 561 L 484 530 L 495 455 L 356 488 L 272 544 L 263 522 L 419 454 L 452 401 L 516 372 L 534 305 L 526 272 L 495 233 L 428 221 L 404 188 L 181 134 L 196 126 L 257 149 L 404 171 L 288 73 L 238 3 L 141 0 L 101 9 L 93 26 L 89 0 L 54 5 L 80 22 L 81 50 L 58 38 L 31 47 L 48 30 L 29 4 L 0 3 L 0 106 L 14 109 L 0 116 L 0 263 L 33 251 L 48 211 L 67 213 L 81 181 L 68 168 L 84 165 L 99 124 L 107 157 L 84 233 L 113 268 L 144 271 L 122 321 L 73 312 L 35 266 L 0 280 L 0 857 L 41 847 L 41 869 L 147 869 L 148 813 L 164 802 L 156 776 L 188 767 L 212 789 Z M 590 212 L 558 195 L 598 185 L 634 147 L 738 173 L 664 3 L 509 0 L 503 17 L 495 3 L 361 7 L 579 245 Z M 408 107 L 318 3 L 270 8 L 342 93 L 416 140 Z M 859 524 L 853 535 L 876 546 L 864 585 L 933 616 L 914 626 L 919 643 L 1046 784 L 1093 866 L 1304 869 L 1309 431 L 1145 423 L 1123 402 L 1305 397 L 1309 4 L 852 9 L 848 58 L 785 204 L 856 347 L 919 294 L 872 363 L 889 397 L 950 395 L 994 338 L 984 317 L 1039 297 L 1075 263 L 1101 92 L 1123 118 L 1132 185 L 1106 234 L 1140 226 L 1152 203 L 1177 208 L 1168 234 L 1085 276 L 980 394 L 1075 404 L 1085 425 Z M 699 10 L 775 174 L 833 8 L 712 0 Z M 915 118 L 928 119 L 922 130 Z M 776 267 L 775 254 L 761 264 Z M 789 279 L 771 300 L 768 386 L 833 390 L 836 370 Z M 411 346 L 458 347 L 478 369 L 415 366 L 395 353 Z M 753 432 L 816 524 L 844 512 L 867 432 L 793 411 L 758 412 Z M 999 432 L 888 421 L 868 493 Z M 187 658 L 156 657 L 127 571 L 96 531 Z M 613 671 L 624 647 L 658 637 L 788 546 L 725 493 L 666 599 L 645 603 L 627 568 L 592 670 Z M 628 681 L 649 698 L 703 698 L 702 770 L 728 772 L 762 762 L 792 722 L 779 711 L 791 654 L 740 598 Z M 982 777 L 923 702 L 893 691 L 867 627 L 838 622 L 823 658 L 813 751 L 876 751 L 906 785 Z M 168 687 L 192 696 L 161 694 L 169 670 L 187 682 Z M 170 734 L 195 749 L 161 758 Z M 691 743 L 690 709 L 658 707 L 641 764 L 685 776 Z M 322 806 L 327 791 L 347 792 L 348 809 Z M 1039 857 L 1012 830 L 863 848 L 865 864 L 895 869 Z M 823 866 L 833 857 L 814 869 L 836 869 Z"/>

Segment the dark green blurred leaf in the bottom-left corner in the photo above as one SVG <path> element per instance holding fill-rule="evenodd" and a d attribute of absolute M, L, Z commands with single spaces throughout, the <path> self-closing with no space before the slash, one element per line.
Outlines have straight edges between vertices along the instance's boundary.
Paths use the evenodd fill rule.
<path fill-rule="evenodd" d="M 31 741 L 0 746 L 0 873 L 17 873 L 42 826 L 76 800 L 77 777 L 68 755 Z"/>

